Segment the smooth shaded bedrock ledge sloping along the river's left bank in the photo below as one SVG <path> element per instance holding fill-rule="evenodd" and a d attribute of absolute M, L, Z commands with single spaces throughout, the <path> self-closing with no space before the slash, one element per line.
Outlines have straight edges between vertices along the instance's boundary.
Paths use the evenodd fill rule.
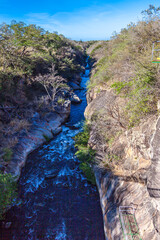
<path fill-rule="evenodd" d="M 67 120 L 70 114 L 70 103 L 69 100 L 65 101 L 63 107 L 57 107 L 55 112 L 46 114 L 43 120 L 37 118 L 31 129 L 20 136 L 14 149 L 14 155 L 7 167 L 7 173 L 11 173 L 16 179 L 20 177 L 21 168 L 25 165 L 28 154 L 62 130 L 61 124 Z"/>

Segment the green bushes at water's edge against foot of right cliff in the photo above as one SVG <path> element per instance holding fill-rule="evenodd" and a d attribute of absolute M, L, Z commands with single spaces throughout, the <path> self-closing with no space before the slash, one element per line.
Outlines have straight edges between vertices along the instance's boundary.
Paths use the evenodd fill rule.
<path fill-rule="evenodd" d="M 75 146 L 78 151 L 76 156 L 81 161 L 80 169 L 85 174 L 87 180 L 92 184 L 96 184 L 92 164 L 94 163 L 95 150 L 88 146 L 90 128 L 84 125 L 83 132 L 80 132 L 75 137 Z"/>

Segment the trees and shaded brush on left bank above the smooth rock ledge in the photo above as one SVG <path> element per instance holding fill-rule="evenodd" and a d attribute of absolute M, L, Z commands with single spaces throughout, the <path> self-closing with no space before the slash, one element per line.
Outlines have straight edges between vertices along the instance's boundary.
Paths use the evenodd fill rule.
<path fill-rule="evenodd" d="M 85 44 L 63 35 L 23 22 L 0 24 L 0 163 L 11 159 L 35 114 L 43 119 L 63 105 L 85 57 Z"/>

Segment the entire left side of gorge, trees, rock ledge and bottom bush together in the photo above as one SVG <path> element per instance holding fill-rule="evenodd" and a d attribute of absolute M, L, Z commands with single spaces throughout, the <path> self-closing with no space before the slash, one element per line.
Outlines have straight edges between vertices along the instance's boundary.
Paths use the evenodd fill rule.
<path fill-rule="evenodd" d="M 74 89 L 86 46 L 33 24 L 0 25 L 0 217 L 29 152 L 60 132 L 71 102 L 81 102 Z"/>

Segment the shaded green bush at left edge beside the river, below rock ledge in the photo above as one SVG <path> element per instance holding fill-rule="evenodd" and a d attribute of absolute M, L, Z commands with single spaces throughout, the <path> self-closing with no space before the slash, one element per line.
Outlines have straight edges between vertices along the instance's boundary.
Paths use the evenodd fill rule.
<path fill-rule="evenodd" d="M 11 174 L 0 173 L 0 219 L 4 211 L 15 201 L 16 183 Z"/>

